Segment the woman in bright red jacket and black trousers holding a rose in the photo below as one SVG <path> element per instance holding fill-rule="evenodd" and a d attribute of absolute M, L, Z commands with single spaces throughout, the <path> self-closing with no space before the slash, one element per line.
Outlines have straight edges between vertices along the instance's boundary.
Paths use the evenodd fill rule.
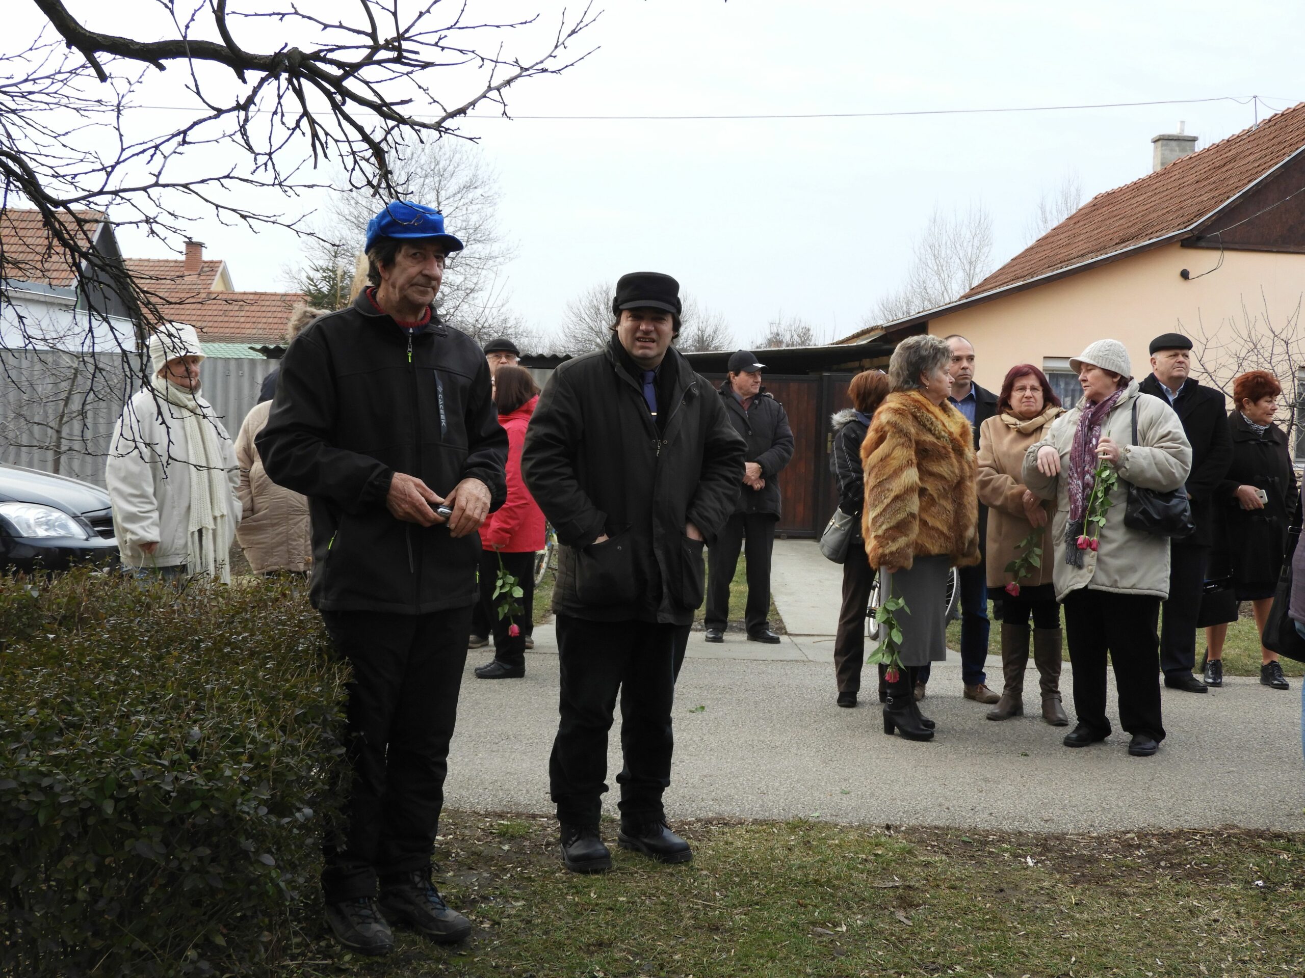
<path fill-rule="evenodd" d="M 499 424 L 508 432 L 508 501 L 480 526 L 480 602 L 493 623 L 493 659 L 476 668 L 482 679 L 518 679 L 526 674 L 526 634 L 535 600 L 535 552 L 544 549 L 544 514 L 521 480 L 521 446 L 539 403 L 539 387 L 523 366 L 500 366 L 495 374 Z M 493 597 L 499 562 L 525 593 L 521 614 L 499 617 L 504 599 Z"/>

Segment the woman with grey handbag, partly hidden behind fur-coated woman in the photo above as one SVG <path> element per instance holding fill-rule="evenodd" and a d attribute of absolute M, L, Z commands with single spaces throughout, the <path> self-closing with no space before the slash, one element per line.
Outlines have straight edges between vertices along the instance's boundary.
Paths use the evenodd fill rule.
<path fill-rule="evenodd" d="M 861 666 L 865 665 L 865 609 L 874 585 L 874 569 L 865 557 L 861 537 L 861 509 L 865 506 L 865 473 L 861 471 L 861 442 L 870 428 L 874 408 L 889 393 L 889 376 L 882 370 L 863 370 L 848 385 L 852 407 L 830 419 L 834 447 L 829 467 L 838 481 L 838 507 L 853 516 L 852 541 L 843 562 L 843 608 L 838 614 L 834 638 L 834 679 L 838 683 L 838 705 L 855 707 L 861 690 Z M 880 703 L 887 698 L 880 666 Z"/>

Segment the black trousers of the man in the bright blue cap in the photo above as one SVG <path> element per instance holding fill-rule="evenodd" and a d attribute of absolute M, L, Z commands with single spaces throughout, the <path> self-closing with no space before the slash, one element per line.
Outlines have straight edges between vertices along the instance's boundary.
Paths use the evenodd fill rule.
<path fill-rule="evenodd" d="M 328 902 L 375 896 L 431 868 L 444 807 L 449 739 L 467 661 L 471 608 L 433 614 L 322 612 L 348 683 L 351 786 L 343 836 L 328 837 Z"/>

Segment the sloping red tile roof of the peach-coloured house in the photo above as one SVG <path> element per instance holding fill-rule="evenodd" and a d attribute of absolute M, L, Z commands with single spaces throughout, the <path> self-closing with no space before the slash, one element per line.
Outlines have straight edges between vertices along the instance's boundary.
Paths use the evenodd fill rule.
<path fill-rule="evenodd" d="M 1302 146 L 1305 102 L 1141 180 L 1099 193 L 962 299 L 1186 231 Z"/>

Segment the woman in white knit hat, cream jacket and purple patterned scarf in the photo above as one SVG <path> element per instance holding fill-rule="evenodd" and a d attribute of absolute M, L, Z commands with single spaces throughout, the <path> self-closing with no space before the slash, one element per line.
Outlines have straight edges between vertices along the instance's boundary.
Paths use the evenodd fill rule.
<path fill-rule="evenodd" d="M 1133 735 L 1129 754 L 1150 756 L 1164 739 L 1156 621 L 1169 593 L 1169 540 L 1125 526 L 1124 512 L 1130 484 L 1158 492 L 1182 486 L 1191 446 L 1173 408 L 1139 393 L 1122 343 L 1100 339 L 1069 363 L 1083 396 L 1030 446 L 1023 466 L 1024 485 L 1056 499 L 1053 582 L 1065 605 L 1078 715 L 1065 746 L 1086 747 L 1111 735 L 1109 653 L 1120 725 Z M 1099 466 L 1117 476 L 1105 494 L 1109 507 L 1092 502 Z M 1105 522 L 1095 523 L 1100 515 Z"/>

